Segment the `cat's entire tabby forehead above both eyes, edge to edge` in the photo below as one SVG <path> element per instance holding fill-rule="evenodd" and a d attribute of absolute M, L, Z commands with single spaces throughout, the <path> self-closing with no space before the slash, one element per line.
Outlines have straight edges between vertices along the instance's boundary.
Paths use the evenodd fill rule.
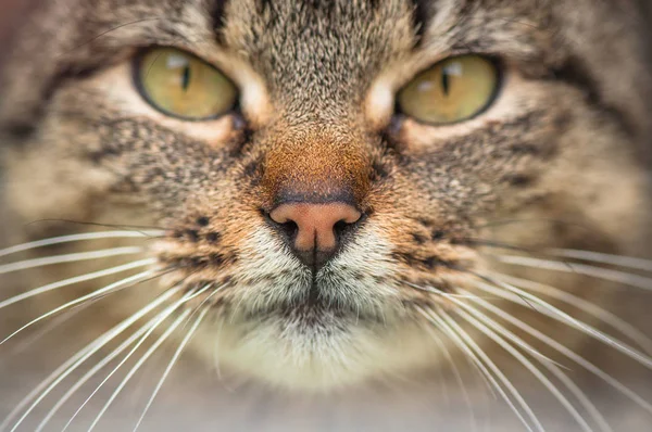
<path fill-rule="evenodd" d="M 43 8 L 3 71 L 11 79 L 4 99 L 14 101 L 4 114 L 13 123 L 30 122 L 35 101 L 62 82 L 148 46 L 178 46 L 209 62 L 215 51 L 237 54 L 244 62 L 224 72 L 237 78 L 238 65 L 255 69 L 277 102 L 274 109 L 288 109 L 287 117 L 298 120 L 315 112 L 342 119 L 342 113 L 360 107 L 379 75 L 414 58 L 421 63 L 406 68 L 405 79 L 460 52 L 516 61 L 538 68 L 538 76 L 570 55 L 604 80 L 612 74 L 625 82 L 624 71 L 642 75 L 632 64 L 640 62 L 630 52 L 634 43 L 613 37 L 622 35 L 618 10 L 625 8 L 616 0 L 53 0 Z M 605 62 L 607 50 L 595 48 L 603 46 L 620 59 Z M 34 47 L 41 47 L 38 55 Z M 614 91 L 631 99 L 626 87 Z"/>

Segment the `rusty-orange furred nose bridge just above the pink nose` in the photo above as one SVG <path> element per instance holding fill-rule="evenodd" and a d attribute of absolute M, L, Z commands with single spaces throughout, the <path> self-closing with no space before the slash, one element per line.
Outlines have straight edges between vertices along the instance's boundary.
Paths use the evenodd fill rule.
<path fill-rule="evenodd" d="M 359 134 L 312 125 L 274 134 L 265 156 L 263 186 L 271 206 L 287 202 L 355 204 L 368 190 L 368 169 Z"/>

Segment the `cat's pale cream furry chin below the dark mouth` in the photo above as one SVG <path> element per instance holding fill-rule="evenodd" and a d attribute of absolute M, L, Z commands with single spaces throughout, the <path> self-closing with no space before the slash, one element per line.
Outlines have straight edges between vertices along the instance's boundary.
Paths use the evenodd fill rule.
<path fill-rule="evenodd" d="M 234 372 L 280 391 L 330 393 L 436 366 L 437 345 L 413 322 L 383 327 L 354 319 L 309 327 L 284 319 L 222 321 L 196 339 L 221 374 Z"/>

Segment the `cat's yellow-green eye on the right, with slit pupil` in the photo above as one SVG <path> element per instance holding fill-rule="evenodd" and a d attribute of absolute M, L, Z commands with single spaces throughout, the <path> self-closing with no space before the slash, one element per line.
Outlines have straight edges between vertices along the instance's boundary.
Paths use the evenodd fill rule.
<path fill-rule="evenodd" d="M 443 125 L 468 119 L 492 101 L 499 85 L 493 62 L 463 55 L 422 72 L 398 94 L 403 114 L 418 122 Z"/>

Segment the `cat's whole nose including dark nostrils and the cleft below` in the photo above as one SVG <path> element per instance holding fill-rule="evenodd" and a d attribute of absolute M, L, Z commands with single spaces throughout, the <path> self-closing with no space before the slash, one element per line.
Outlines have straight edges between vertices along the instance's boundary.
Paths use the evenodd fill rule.
<path fill-rule="evenodd" d="M 286 231 L 294 255 L 316 270 L 335 255 L 343 232 L 361 217 L 353 205 L 341 202 L 287 203 L 269 213 L 269 218 Z"/>

